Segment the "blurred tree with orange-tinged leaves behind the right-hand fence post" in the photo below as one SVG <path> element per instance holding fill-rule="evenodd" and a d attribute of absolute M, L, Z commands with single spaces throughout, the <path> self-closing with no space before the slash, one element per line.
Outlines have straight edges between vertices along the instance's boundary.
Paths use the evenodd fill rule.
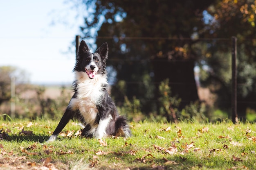
<path fill-rule="evenodd" d="M 231 40 L 238 38 L 238 116 L 245 117 L 247 107 L 256 109 L 256 0 L 217 0 L 207 12 L 209 21 L 204 37 L 222 38 L 208 46 L 210 67 L 202 83 L 217 94 L 216 107 L 230 110 L 231 101 Z M 225 61 L 226 60 L 226 61 Z M 213 87 L 212 85 L 215 84 Z"/>

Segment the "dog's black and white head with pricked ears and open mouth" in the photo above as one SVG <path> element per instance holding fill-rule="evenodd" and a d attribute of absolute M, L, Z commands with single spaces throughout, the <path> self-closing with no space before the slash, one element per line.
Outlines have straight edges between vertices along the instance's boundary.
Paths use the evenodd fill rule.
<path fill-rule="evenodd" d="M 104 43 L 95 53 L 90 52 L 85 41 L 81 41 L 77 52 L 74 71 L 86 72 L 93 79 L 97 74 L 106 73 L 106 59 L 108 58 L 108 44 Z"/>

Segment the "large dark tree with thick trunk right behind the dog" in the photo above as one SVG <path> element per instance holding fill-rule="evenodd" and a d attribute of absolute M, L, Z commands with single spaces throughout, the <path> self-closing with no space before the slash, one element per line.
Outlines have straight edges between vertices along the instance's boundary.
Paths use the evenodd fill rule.
<path fill-rule="evenodd" d="M 98 46 L 108 41 L 108 62 L 116 70 L 117 80 L 126 81 L 126 95 L 138 96 L 146 106 L 144 110 L 152 109 L 150 100 L 159 98 L 155 86 L 166 78 L 184 107 L 198 100 L 193 73 L 197 55 L 190 37 L 203 28 L 202 12 L 212 2 L 85 0 L 92 13 L 81 31 L 83 38 L 97 35 Z M 97 32 L 93 32 L 95 28 Z M 117 101 L 121 100 L 117 91 L 113 93 Z"/>

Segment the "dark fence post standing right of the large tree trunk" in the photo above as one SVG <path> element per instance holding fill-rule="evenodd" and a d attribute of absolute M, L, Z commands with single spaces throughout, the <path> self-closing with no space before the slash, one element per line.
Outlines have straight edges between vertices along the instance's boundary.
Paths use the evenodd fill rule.
<path fill-rule="evenodd" d="M 232 95 L 231 95 L 231 107 L 232 107 L 232 122 L 238 123 L 237 114 L 237 70 L 236 70 L 236 37 L 232 37 Z"/>

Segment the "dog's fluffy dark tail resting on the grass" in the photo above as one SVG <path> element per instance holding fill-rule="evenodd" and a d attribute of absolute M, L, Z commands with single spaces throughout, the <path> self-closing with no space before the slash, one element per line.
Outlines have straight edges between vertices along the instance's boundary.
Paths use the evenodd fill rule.
<path fill-rule="evenodd" d="M 116 136 L 130 137 L 132 135 L 127 119 L 119 116 L 115 122 Z"/>

